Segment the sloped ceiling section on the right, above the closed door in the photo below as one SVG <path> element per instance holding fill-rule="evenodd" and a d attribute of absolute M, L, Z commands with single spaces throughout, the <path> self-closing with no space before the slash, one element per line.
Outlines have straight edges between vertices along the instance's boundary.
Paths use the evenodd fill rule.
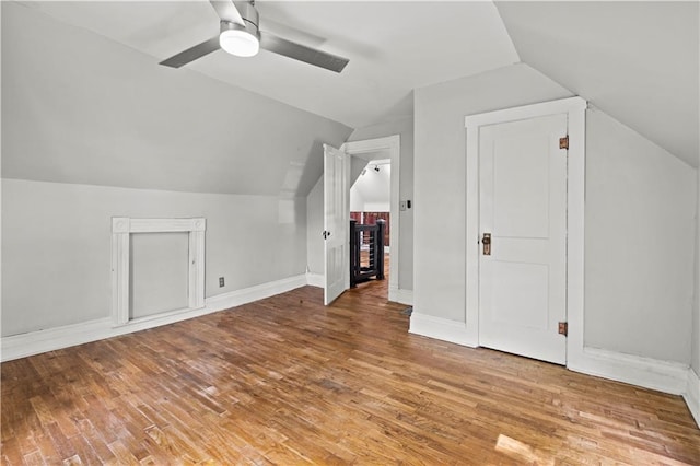
<path fill-rule="evenodd" d="M 521 60 L 698 166 L 699 3 L 497 2 Z"/>

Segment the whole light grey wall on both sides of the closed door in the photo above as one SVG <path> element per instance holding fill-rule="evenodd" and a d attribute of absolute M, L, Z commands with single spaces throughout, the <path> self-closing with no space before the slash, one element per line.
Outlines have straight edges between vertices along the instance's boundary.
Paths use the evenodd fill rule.
<path fill-rule="evenodd" d="M 570 95 L 526 65 L 416 90 L 417 314 L 465 323 L 464 116 Z M 585 340 L 688 363 L 695 170 L 603 114 L 588 117 Z M 677 249 L 664 256 L 668 229 Z M 617 254 L 604 247 L 610 235 Z M 615 286 L 602 283 L 603 268 Z"/>

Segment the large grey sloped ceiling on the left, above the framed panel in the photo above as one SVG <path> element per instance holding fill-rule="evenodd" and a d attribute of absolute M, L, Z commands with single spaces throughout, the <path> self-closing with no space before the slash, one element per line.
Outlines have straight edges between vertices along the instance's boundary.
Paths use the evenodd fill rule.
<path fill-rule="evenodd" d="M 306 196 L 351 128 L 2 2 L 2 176 Z"/>

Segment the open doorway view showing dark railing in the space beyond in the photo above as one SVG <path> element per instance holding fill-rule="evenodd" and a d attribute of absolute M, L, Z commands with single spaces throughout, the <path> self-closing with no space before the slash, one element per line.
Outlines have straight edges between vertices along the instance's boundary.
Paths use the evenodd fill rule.
<path fill-rule="evenodd" d="M 363 155 L 352 156 L 350 170 L 350 286 L 388 298 L 392 160 Z"/>

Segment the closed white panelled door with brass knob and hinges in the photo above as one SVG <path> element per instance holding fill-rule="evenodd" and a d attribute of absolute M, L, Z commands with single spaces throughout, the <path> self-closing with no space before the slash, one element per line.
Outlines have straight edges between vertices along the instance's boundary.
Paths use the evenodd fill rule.
<path fill-rule="evenodd" d="M 558 331 L 567 319 L 565 135 L 565 114 L 479 132 L 479 345 L 558 364 L 567 362 Z"/>

